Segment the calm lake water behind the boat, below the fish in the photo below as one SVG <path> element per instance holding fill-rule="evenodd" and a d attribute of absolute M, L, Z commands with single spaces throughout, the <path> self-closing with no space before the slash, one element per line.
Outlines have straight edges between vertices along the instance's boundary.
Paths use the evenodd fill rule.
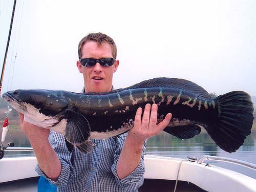
<path fill-rule="evenodd" d="M 159 155 L 165 157 L 177 157 L 187 159 L 188 156 L 200 158 L 203 155 L 222 156 L 233 159 L 239 159 L 256 164 L 256 129 L 253 125 L 252 133 L 247 136 L 243 146 L 235 153 L 229 154 L 221 150 L 207 133 L 200 133 L 194 138 L 180 140 L 165 132 L 161 132 L 147 141 L 147 155 Z M 15 146 L 30 146 L 26 135 L 19 129 L 19 126 L 9 127 L 6 142 L 13 141 Z M 5 152 L 5 157 L 30 156 L 30 152 Z M 204 161 L 209 162 L 209 161 Z M 231 170 L 235 170 L 249 177 L 256 179 L 256 171 L 239 166 L 236 164 L 224 162 L 209 162 L 209 164 L 222 166 Z M 171 171 L 171 170 L 170 170 Z"/>

